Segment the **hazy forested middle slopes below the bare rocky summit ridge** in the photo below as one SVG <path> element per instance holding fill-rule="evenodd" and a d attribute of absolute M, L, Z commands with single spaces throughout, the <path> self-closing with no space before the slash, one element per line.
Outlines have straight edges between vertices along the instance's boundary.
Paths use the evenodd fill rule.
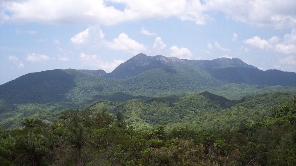
<path fill-rule="evenodd" d="M 251 70 L 257 71 L 257 69 Z M 249 74 L 249 77 L 252 78 L 252 73 Z M 269 73 L 270 75 L 272 74 Z M 277 81 L 273 81 L 272 85 L 293 85 L 295 73 L 289 72 L 287 75 L 287 77 L 281 76 L 281 80 L 271 76 L 266 79 L 264 77 L 254 77 L 254 79 L 262 78 L 265 82 L 277 79 Z M 6 104 L 45 104 L 71 101 L 91 103 L 98 99 L 124 101 L 131 98 L 145 99 L 145 96 L 184 96 L 204 91 L 229 99 L 240 99 L 248 94 L 273 91 L 296 92 L 295 86 L 254 85 L 257 84 L 256 80 L 250 83 L 252 79 L 248 79 L 249 77 L 245 75 L 243 75 L 245 77 L 239 78 L 243 77 L 246 83 L 232 83 L 233 81 L 229 81 L 229 79 L 236 79 L 237 77 L 234 76 L 232 77 L 230 74 L 230 76 L 225 76 L 227 80 L 224 80 L 220 78 L 222 76 L 212 77 L 208 71 L 188 65 L 152 69 L 124 80 L 98 77 L 75 69 L 56 69 L 29 73 L 0 85 L 0 100 Z M 281 81 L 283 82 L 281 83 Z M 117 95 L 113 95 L 114 93 Z M 130 97 L 122 96 L 123 93 L 130 95 Z"/>

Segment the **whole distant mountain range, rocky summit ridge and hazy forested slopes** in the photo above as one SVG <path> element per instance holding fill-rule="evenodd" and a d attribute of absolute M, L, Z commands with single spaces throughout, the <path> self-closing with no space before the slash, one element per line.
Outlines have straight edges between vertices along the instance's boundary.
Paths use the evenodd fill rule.
<path fill-rule="evenodd" d="M 296 92 L 296 73 L 262 71 L 237 58 L 186 60 L 140 53 L 111 73 L 76 69 L 28 73 L 0 85 L 0 103 L 122 101 L 204 91 L 239 99 L 278 90 Z"/>

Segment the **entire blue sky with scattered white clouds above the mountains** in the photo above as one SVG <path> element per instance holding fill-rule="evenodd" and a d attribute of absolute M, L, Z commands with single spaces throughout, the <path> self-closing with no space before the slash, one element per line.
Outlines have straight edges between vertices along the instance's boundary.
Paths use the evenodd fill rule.
<path fill-rule="evenodd" d="M 1 0 L 0 85 L 138 53 L 296 72 L 295 0 Z"/>

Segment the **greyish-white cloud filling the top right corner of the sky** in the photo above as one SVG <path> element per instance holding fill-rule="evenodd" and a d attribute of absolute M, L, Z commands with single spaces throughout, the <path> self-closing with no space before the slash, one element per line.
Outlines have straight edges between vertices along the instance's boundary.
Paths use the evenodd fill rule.
<path fill-rule="evenodd" d="M 259 27 L 282 29 L 296 25 L 293 0 L 207 0 L 205 3 L 207 10 L 222 11 L 228 14 L 228 18 Z"/>

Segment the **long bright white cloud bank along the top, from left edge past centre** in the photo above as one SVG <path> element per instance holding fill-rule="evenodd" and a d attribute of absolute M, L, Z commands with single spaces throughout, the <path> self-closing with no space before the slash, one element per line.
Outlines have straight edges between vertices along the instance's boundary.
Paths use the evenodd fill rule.
<path fill-rule="evenodd" d="M 7 1 L 2 8 L 6 20 L 14 22 L 38 22 L 45 24 L 88 24 L 116 25 L 120 22 L 146 18 L 168 18 L 175 16 L 181 20 L 204 24 L 207 14 L 198 0 L 108 0 L 124 9 L 106 5 L 104 0 L 64 0 L 53 1 Z M 112 4 L 111 3 L 111 4 Z M 169 4 L 169 5 L 168 5 Z M 116 5 L 117 6 L 117 5 Z"/>

